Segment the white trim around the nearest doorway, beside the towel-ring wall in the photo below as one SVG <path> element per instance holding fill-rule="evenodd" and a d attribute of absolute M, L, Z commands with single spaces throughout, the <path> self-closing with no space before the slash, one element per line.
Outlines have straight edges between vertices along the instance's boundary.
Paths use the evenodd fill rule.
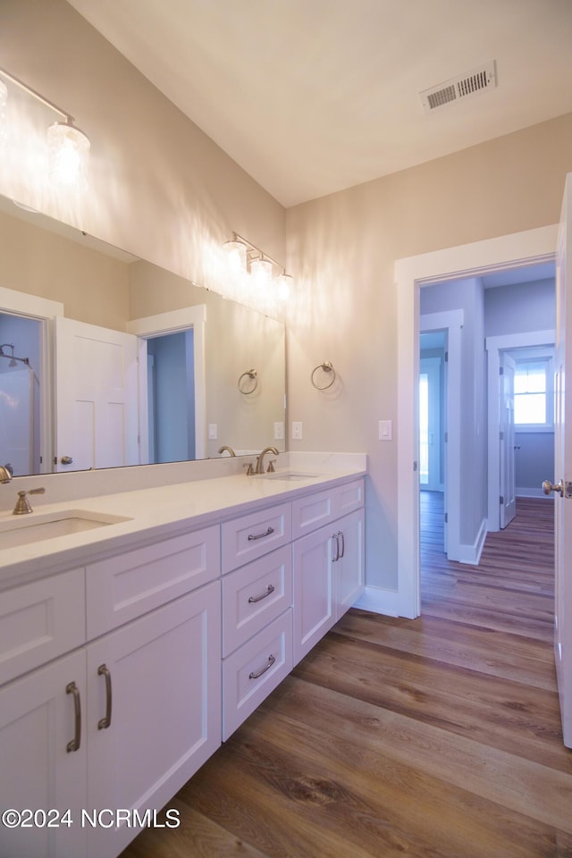
<path fill-rule="evenodd" d="M 558 225 L 515 232 L 475 241 L 456 248 L 434 250 L 416 257 L 397 259 L 394 280 L 398 324 L 398 475 L 397 543 L 398 602 L 403 616 L 421 612 L 419 559 L 419 475 L 416 461 L 416 377 L 419 357 L 419 290 L 430 282 L 482 276 L 485 273 L 524 267 L 555 257 Z"/>

